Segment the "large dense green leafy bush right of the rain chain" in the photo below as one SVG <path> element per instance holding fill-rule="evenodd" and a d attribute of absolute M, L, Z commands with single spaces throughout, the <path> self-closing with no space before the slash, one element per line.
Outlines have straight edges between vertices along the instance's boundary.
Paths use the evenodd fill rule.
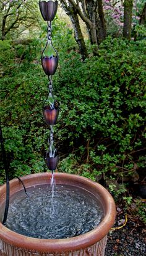
<path fill-rule="evenodd" d="M 86 173 L 122 182 L 144 164 L 145 42 L 109 38 L 99 54 L 85 63 L 74 52 L 61 56 L 56 130 L 77 163 L 90 164 Z"/>

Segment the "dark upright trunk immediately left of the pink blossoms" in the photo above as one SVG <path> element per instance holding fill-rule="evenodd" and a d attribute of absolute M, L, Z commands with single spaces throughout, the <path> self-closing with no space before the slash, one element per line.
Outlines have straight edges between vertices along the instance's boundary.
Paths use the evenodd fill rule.
<path fill-rule="evenodd" d="M 98 0 L 98 39 L 103 41 L 106 39 L 106 21 L 105 14 L 103 12 L 103 2 Z"/>

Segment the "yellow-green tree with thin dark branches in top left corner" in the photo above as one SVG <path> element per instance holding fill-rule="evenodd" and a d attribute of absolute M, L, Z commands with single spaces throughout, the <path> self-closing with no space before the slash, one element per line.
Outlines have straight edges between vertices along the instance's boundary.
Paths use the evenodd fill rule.
<path fill-rule="evenodd" d="M 0 39 L 4 40 L 7 34 L 16 32 L 20 27 L 23 31 L 36 26 L 37 11 L 37 1 L 0 0 Z"/>

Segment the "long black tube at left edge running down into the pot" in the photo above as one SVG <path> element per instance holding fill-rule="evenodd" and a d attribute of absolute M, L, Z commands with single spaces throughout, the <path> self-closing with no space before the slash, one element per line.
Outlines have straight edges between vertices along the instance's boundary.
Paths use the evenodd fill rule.
<path fill-rule="evenodd" d="M 4 169 L 5 169 L 5 175 L 6 175 L 6 206 L 5 206 L 4 218 L 2 220 L 2 224 L 6 225 L 7 214 L 8 214 L 8 211 L 9 211 L 10 185 L 9 185 L 9 164 L 7 163 L 6 152 L 5 152 L 5 149 L 4 149 L 4 141 L 3 141 L 3 137 L 2 137 L 1 120 L 0 120 L 0 137 L 1 137 L 2 159 L 3 159 L 3 162 L 4 162 Z"/>

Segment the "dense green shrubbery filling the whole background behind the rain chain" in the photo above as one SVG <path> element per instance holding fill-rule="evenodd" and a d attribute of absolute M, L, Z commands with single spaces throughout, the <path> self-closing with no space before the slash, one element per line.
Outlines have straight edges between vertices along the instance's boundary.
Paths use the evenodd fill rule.
<path fill-rule="evenodd" d="M 38 43 L 15 47 L 0 42 L 1 122 L 11 178 L 46 171 L 49 128 L 42 106 L 48 92 Z M 84 63 L 75 47 L 66 48 L 64 44 L 60 50 L 53 79 L 60 103 L 54 127 L 61 156 L 58 171 L 94 180 L 102 176 L 111 191 L 124 192 L 124 183 L 144 168 L 145 40 L 108 37 L 99 55 L 91 54 Z"/>

